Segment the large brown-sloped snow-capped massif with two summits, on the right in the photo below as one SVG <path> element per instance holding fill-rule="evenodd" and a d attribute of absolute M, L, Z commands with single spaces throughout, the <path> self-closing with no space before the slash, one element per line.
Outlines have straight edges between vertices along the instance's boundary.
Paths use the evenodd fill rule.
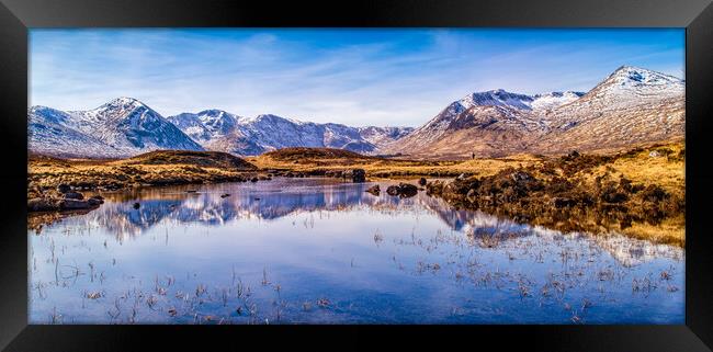
<path fill-rule="evenodd" d="M 493 157 L 596 150 L 683 135 L 684 83 L 623 66 L 589 92 L 476 92 L 451 103 L 386 152 Z"/>

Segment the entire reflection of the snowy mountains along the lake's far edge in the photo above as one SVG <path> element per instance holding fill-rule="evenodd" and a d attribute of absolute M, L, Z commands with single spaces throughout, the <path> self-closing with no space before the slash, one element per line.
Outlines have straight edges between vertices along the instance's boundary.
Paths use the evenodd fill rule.
<path fill-rule="evenodd" d="M 381 184 L 385 189 L 389 183 Z M 234 183 L 205 185 L 197 193 L 194 185 L 150 188 L 134 192 L 104 194 L 106 203 L 89 214 L 72 217 L 87 227 L 100 226 L 120 239 L 140 235 L 159 224 L 223 225 L 233 220 L 259 218 L 264 220 L 309 212 L 370 211 L 394 217 L 428 213 L 457 232 L 477 241 L 483 236 L 509 241 L 527 236 L 546 241 L 563 238 L 558 231 L 532 228 L 482 212 L 460 211 L 439 197 L 423 192 L 410 198 L 382 193 L 374 196 L 365 190 L 371 183 L 342 183 L 335 179 L 275 179 L 256 184 Z M 230 193 L 228 197 L 222 194 Z M 140 207 L 133 207 L 139 202 Z M 577 235 L 573 235 L 577 236 Z M 609 252 L 625 265 L 635 265 L 654 258 L 678 258 L 682 251 L 670 246 L 652 245 L 623 236 L 586 236 L 592 246 Z M 680 258 L 679 258 L 680 259 Z"/>

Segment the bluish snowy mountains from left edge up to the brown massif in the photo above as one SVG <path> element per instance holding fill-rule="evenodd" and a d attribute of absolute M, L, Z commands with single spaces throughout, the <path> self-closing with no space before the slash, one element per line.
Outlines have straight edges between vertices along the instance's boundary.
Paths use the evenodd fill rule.
<path fill-rule="evenodd" d="M 411 127 L 350 127 L 276 115 L 240 117 L 220 110 L 163 117 L 133 98 L 88 111 L 32 106 L 32 152 L 76 158 L 123 158 L 157 149 L 216 150 L 256 156 L 285 147 L 328 147 L 374 154 Z"/>

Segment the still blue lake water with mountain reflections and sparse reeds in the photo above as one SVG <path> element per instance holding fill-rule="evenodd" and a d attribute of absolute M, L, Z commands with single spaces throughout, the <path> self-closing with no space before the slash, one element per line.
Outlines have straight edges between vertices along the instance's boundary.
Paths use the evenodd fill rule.
<path fill-rule="evenodd" d="M 371 185 L 103 193 L 100 208 L 27 231 L 30 321 L 684 322 L 680 248 L 518 225 L 425 192 L 374 196 Z"/>

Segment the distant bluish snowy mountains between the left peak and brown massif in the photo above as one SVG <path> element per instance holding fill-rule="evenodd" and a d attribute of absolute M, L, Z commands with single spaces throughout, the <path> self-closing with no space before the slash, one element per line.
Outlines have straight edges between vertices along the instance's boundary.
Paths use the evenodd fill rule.
<path fill-rule="evenodd" d="M 271 114 L 240 117 L 218 110 L 184 113 L 168 120 L 206 149 L 244 156 L 286 147 L 329 147 L 371 154 L 411 130 L 317 124 Z"/>

